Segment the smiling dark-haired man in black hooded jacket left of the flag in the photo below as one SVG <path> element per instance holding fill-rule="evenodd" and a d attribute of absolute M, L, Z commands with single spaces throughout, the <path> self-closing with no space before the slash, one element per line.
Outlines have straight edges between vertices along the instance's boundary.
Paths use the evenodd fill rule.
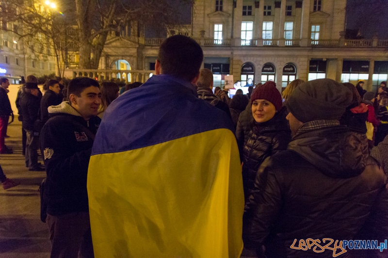
<path fill-rule="evenodd" d="M 97 81 L 71 80 L 67 98 L 49 106 L 51 116 L 41 131 L 47 171 L 45 199 L 51 257 L 93 257 L 86 178 L 94 136 L 100 123 Z"/>

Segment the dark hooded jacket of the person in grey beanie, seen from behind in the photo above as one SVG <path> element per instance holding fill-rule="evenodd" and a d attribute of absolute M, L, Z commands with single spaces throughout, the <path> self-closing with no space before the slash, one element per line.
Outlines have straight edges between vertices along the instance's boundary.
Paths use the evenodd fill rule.
<path fill-rule="evenodd" d="M 365 135 L 340 125 L 316 129 L 294 137 L 287 151 L 260 167 L 244 213 L 244 246 L 260 252 L 264 244 L 269 258 L 333 257 L 327 249 L 318 254 L 290 246 L 308 238 L 385 240 L 387 207 L 387 178 L 369 157 Z M 373 257 L 362 255 L 347 249 L 340 257 Z"/>

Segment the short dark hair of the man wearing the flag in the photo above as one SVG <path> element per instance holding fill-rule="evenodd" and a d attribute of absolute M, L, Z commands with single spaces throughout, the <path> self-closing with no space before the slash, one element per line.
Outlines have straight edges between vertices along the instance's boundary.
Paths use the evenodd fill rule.
<path fill-rule="evenodd" d="M 158 54 L 162 73 L 192 81 L 198 75 L 203 61 L 201 46 L 193 39 L 174 35 L 161 45 Z"/>

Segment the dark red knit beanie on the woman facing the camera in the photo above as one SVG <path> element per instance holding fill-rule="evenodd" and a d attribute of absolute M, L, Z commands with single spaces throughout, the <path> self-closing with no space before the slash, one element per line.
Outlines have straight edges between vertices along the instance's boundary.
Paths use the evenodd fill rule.
<path fill-rule="evenodd" d="M 251 95 L 251 103 L 257 99 L 265 99 L 271 102 L 277 111 L 279 111 L 282 106 L 282 95 L 276 89 L 276 83 L 273 81 L 267 81 L 261 85 L 258 89 L 255 89 Z"/>

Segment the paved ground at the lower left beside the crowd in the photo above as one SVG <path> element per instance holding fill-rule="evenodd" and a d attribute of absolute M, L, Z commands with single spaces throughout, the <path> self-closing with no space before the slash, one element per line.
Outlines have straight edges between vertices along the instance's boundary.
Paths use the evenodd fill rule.
<path fill-rule="evenodd" d="M 21 154 L 21 122 L 8 126 L 5 144 L 14 154 L 0 155 L 4 174 L 20 185 L 0 187 L 0 257 L 47 258 L 51 249 L 47 225 L 40 221 L 39 184 L 46 172 L 28 171 Z M 39 162 L 43 164 L 41 157 Z"/>

